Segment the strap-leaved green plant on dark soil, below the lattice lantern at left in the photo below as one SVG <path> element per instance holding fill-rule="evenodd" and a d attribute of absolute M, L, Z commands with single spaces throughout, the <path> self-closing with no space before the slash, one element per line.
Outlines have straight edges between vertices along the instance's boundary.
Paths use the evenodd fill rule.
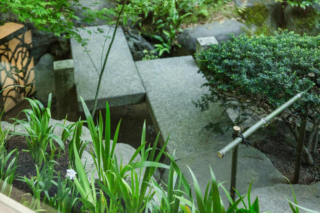
<path fill-rule="evenodd" d="M 32 100 L 25 98 L 29 101 L 31 109 L 24 109 L 20 113 L 24 113 L 27 117 L 26 120 L 13 119 L 17 123 L 21 124 L 28 134 L 26 136 L 27 145 L 29 148 L 29 153 L 38 167 L 41 167 L 42 162 L 45 158 L 45 151 L 47 149 L 48 143 L 52 147 L 53 152 L 56 151 L 56 147 L 52 140 L 55 140 L 58 145 L 58 152 L 62 149 L 64 151 L 64 142 L 67 140 L 70 131 L 67 127 L 62 124 L 49 125 L 49 120 L 51 118 L 51 93 L 48 99 L 48 106 L 44 107 L 42 103 L 38 100 Z M 63 133 L 61 138 L 53 134 L 54 127 L 58 125 L 63 128 Z"/>

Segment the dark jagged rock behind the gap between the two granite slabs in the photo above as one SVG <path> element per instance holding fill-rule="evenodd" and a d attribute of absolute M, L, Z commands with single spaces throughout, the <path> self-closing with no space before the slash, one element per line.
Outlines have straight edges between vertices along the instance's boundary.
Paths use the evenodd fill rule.
<path fill-rule="evenodd" d="M 145 55 L 144 50 L 148 52 L 153 51 L 155 48 L 151 45 L 136 29 L 125 29 L 124 35 L 127 39 L 129 49 L 134 61 L 140 61 Z"/>

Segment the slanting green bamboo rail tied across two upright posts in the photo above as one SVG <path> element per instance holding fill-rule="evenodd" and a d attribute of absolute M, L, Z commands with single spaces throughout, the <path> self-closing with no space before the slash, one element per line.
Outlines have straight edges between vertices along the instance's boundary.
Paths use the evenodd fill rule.
<path fill-rule="evenodd" d="M 291 106 L 294 102 L 296 102 L 297 100 L 299 100 L 302 95 L 305 92 L 308 92 L 310 89 L 312 89 L 312 86 L 310 86 L 307 90 L 305 91 L 301 91 L 298 94 L 296 94 L 295 96 L 293 96 L 290 100 L 288 100 L 287 102 L 285 102 L 282 106 L 280 106 L 279 108 L 277 108 L 275 111 L 273 111 L 272 113 L 270 113 L 268 116 L 266 116 L 265 118 L 262 118 L 260 121 L 258 121 L 257 123 L 255 123 L 252 127 L 250 127 L 247 131 L 245 131 L 243 133 L 244 138 L 249 137 L 253 132 L 255 132 L 256 130 L 258 130 L 261 126 L 267 124 L 267 122 L 269 122 L 271 119 L 273 119 L 274 117 L 276 117 L 278 114 L 280 114 L 282 111 L 284 111 L 286 108 L 288 108 L 289 106 Z M 223 158 L 225 156 L 226 153 L 228 153 L 231 149 L 233 149 L 233 147 L 237 146 L 238 144 L 240 144 L 242 142 L 242 138 L 236 138 L 234 139 L 231 143 L 229 143 L 227 146 L 225 146 L 224 148 L 222 148 L 221 150 L 219 150 L 217 152 L 218 157 Z"/>

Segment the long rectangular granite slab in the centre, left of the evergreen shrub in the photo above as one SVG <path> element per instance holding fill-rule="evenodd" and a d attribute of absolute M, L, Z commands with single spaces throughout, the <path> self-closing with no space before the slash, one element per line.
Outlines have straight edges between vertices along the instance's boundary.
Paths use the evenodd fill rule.
<path fill-rule="evenodd" d="M 219 103 L 201 112 L 192 103 L 206 93 L 201 88 L 205 82 L 192 56 L 137 61 L 136 66 L 145 87 L 146 101 L 157 131 L 161 130 L 162 139 L 169 133 L 167 151 L 176 150 L 177 159 L 192 153 L 222 148 L 226 141 L 231 142 L 228 134 L 215 134 L 204 127 L 209 122 L 230 125 Z"/>

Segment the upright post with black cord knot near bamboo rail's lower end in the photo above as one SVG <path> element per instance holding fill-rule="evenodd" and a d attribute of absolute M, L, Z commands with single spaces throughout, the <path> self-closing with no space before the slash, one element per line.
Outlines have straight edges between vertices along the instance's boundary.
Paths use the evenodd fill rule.
<path fill-rule="evenodd" d="M 233 139 L 236 136 L 240 135 L 240 127 L 234 126 L 233 127 Z M 233 201 L 236 201 L 236 187 L 237 187 L 237 176 L 238 176 L 238 150 L 239 144 L 235 146 L 232 150 L 232 162 L 231 162 L 231 181 L 230 181 L 230 196 Z M 229 203 L 231 206 L 231 203 Z"/>

